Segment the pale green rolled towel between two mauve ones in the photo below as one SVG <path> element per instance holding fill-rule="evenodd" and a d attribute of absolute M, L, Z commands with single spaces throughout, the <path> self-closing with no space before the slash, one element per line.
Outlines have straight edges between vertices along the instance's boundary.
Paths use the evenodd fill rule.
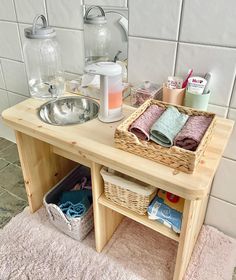
<path fill-rule="evenodd" d="M 151 127 L 150 139 L 164 147 L 171 147 L 175 136 L 184 126 L 188 115 L 173 106 L 168 107 Z"/>

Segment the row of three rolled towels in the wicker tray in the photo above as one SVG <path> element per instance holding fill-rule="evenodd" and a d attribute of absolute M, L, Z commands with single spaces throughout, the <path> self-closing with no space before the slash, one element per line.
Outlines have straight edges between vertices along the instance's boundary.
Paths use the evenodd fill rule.
<path fill-rule="evenodd" d="M 188 116 L 174 106 L 164 110 L 151 105 L 129 127 L 140 140 L 154 141 L 163 147 L 173 145 L 195 151 L 212 121 L 211 117 Z"/>

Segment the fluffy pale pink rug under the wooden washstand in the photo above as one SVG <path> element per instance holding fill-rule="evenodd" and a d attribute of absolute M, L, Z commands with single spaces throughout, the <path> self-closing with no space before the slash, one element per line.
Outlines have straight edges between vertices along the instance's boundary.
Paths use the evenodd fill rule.
<path fill-rule="evenodd" d="M 124 219 L 98 254 L 94 233 L 78 242 L 58 232 L 46 211 L 28 208 L 0 230 L 1 280 L 170 280 L 177 244 Z M 231 280 L 235 240 L 204 226 L 185 280 Z"/>

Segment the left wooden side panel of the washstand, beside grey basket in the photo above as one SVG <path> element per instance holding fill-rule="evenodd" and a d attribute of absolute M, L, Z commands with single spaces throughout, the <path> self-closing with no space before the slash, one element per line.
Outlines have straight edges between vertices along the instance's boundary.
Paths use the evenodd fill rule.
<path fill-rule="evenodd" d="M 76 163 L 54 154 L 45 142 L 18 131 L 15 134 L 30 210 L 35 212 L 44 194 Z"/>

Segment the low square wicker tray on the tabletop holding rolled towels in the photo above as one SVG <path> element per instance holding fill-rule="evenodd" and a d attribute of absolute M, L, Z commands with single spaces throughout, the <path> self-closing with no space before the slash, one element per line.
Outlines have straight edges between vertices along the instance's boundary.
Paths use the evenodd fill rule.
<path fill-rule="evenodd" d="M 195 115 L 212 117 L 212 121 L 196 151 L 188 151 L 176 146 L 166 148 L 152 141 L 147 142 L 140 140 L 136 135 L 128 131 L 130 125 L 152 104 L 156 104 L 163 108 L 167 108 L 168 106 L 172 105 L 153 99 L 147 100 L 142 106 L 140 106 L 133 114 L 131 114 L 122 124 L 117 127 L 114 136 L 116 147 L 124 151 L 139 155 L 141 157 L 156 161 L 158 163 L 165 164 L 174 169 L 186 173 L 193 173 L 200 161 L 201 156 L 206 150 L 207 144 L 211 139 L 216 119 L 215 114 L 194 110 L 188 107 L 172 105 L 176 107 L 181 113 L 185 113 L 189 116 Z"/>

